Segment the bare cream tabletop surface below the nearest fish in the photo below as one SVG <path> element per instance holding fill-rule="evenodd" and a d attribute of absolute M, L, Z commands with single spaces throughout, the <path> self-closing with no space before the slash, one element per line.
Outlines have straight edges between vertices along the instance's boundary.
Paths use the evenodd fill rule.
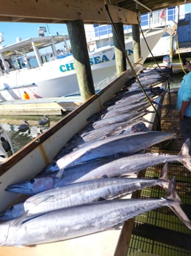
<path fill-rule="evenodd" d="M 111 229 L 106 232 L 90 234 L 76 239 L 61 241 L 57 243 L 46 243 L 38 246 L 23 248 L 4 247 L 0 248 L 0 255 L 4 256 L 112 256 L 115 245 L 121 232 L 119 229 Z"/>

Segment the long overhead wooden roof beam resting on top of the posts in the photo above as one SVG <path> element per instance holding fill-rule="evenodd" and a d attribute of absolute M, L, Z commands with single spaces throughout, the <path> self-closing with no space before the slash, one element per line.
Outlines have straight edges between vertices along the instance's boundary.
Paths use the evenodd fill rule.
<path fill-rule="evenodd" d="M 121 7 L 108 4 L 113 22 L 137 24 L 136 13 Z M 101 0 L 65 0 L 65 1 L 22 1 L 10 0 L 9 4 L 0 1 L 1 21 L 11 22 L 61 22 L 83 20 L 84 23 L 110 24 L 110 18 Z M 23 18 L 19 20 L 19 18 Z"/>

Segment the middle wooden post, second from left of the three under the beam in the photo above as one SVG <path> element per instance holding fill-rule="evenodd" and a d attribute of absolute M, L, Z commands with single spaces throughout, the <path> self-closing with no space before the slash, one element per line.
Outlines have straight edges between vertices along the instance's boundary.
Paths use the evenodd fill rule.
<path fill-rule="evenodd" d="M 121 76 L 121 73 L 127 70 L 126 56 L 124 55 L 124 51 L 122 49 L 122 47 L 125 49 L 124 26 L 121 22 L 113 24 L 113 44 L 115 50 L 115 65 L 117 76 Z"/>

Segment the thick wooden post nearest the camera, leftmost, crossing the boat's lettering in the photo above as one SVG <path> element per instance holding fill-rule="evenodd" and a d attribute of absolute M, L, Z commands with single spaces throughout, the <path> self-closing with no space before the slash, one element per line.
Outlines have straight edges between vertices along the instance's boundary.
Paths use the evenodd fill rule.
<path fill-rule="evenodd" d="M 73 53 L 81 99 L 85 102 L 95 94 L 93 76 L 87 51 L 84 23 L 81 20 L 67 22 L 67 30 Z"/>

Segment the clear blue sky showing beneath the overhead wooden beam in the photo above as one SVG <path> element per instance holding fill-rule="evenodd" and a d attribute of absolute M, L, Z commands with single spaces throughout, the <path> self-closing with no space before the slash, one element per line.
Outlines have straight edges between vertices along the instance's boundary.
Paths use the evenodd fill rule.
<path fill-rule="evenodd" d="M 191 4 L 186 4 L 186 12 L 191 13 Z M 67 35 L 66 24 L 36 24 L 36 23 L 19 23 L 19 22 L 0 22 L 0 33 L 4 35 L 2 45 L 10 45 L 16 42 L 17 37 L 28 39 L 38 36 L 38 27 L 47 27 L 45 36 L 55 36 L 56 32 L 59 35 Z"/>

